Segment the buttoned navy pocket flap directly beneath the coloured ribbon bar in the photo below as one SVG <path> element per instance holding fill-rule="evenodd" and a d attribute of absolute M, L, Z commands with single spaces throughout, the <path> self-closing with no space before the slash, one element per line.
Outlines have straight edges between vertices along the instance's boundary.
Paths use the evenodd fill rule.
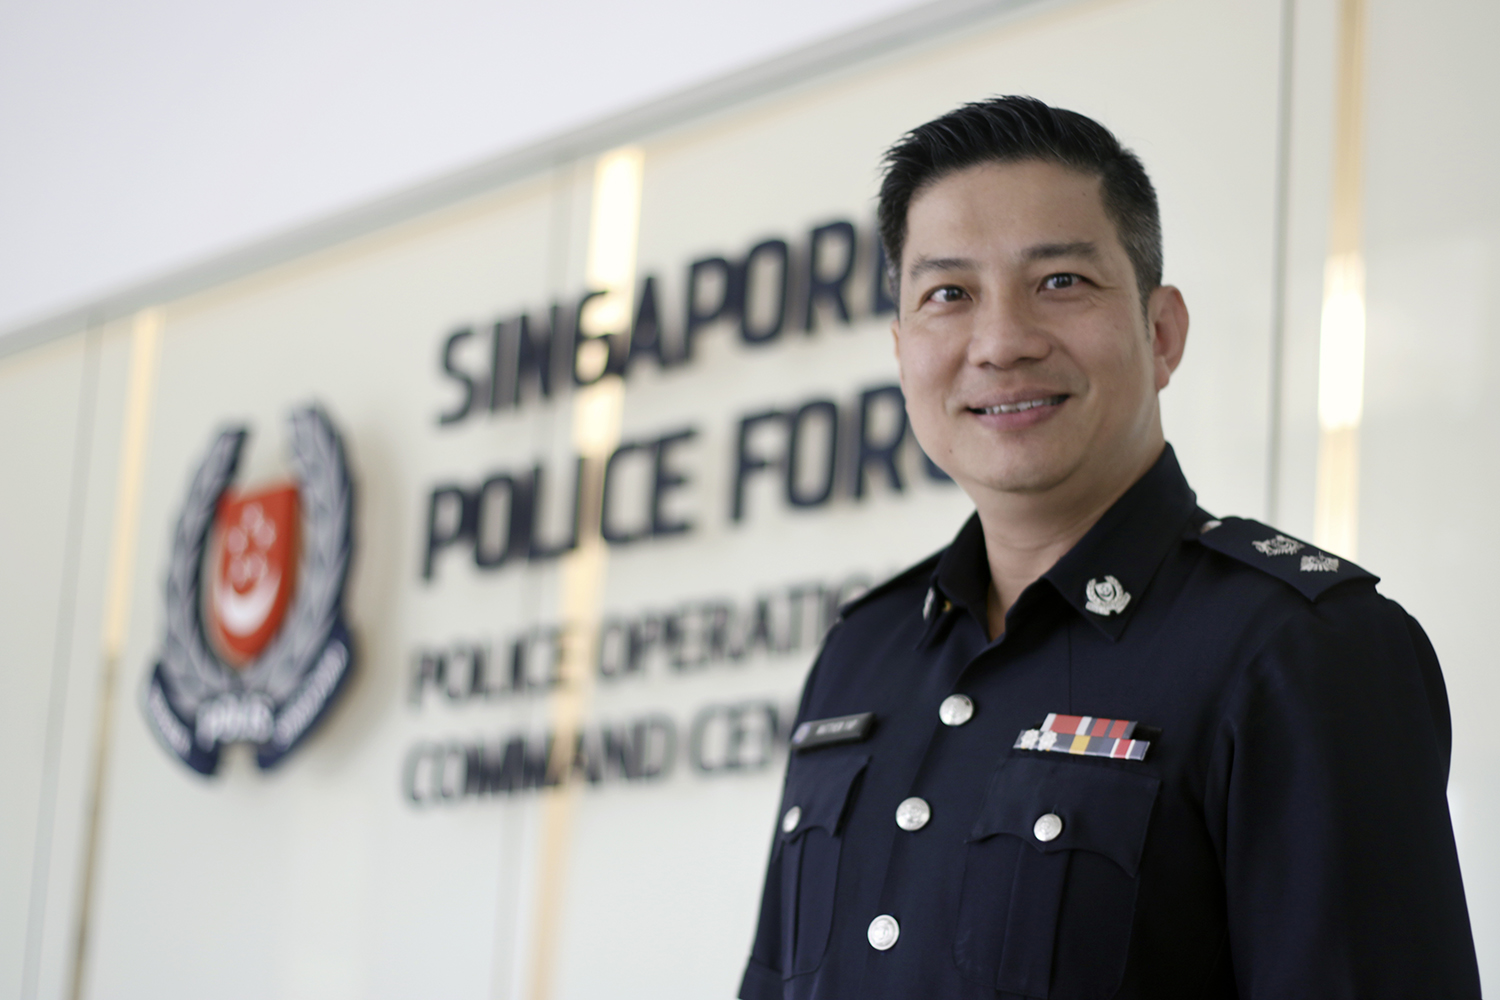
<path fill-rule="evenodd" d="M 969 840 L 1008 834 L 1041 853 L 1088 850 L 1134 879 L 1160 787 L 1158 778 L 1120 768 L 1011 757 L 990 783 Z M 1062 829 L 1038 840 L 1036 820 L 1047 814 L 1060 819 Z"/>

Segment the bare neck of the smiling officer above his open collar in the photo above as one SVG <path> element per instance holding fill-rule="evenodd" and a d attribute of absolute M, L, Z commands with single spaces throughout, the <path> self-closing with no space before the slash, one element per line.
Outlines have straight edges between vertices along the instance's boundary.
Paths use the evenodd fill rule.
<path fill-rule="evenodd" d="M 1156 442 L 1136 462 L 1090 483 L 1074 483 L 1076 477 L 1070 477 L 1040 493 L 994 492 L 975 498 L 990 562 L 992 639 L 1005 631 L 1005 615 L 1022 591 L 1078 544 L 1104 511 L 1155 465 L 1162 447 L 1164 442 Z"/>

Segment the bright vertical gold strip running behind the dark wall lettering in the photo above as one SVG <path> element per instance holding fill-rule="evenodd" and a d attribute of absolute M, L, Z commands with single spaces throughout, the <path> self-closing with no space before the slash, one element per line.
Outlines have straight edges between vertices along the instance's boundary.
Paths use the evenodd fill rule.
<path fill-rule="evenodd" d="M 628 331 L 634 291 L 636 238 L 640 222 L 639 148 L 624 147 L 602 156 L 594 168 L 585 279 L 604 292 L 580 324 L 597 331 Z M 573 397 L 573 447 L 584 459 L 580 484 L 579 544 L 562 561 L 562 621 L 568 624 L 562 648 L 561 684 L 552 696 L 552 757 L 542 813 L 542 864 L 537 876 L 536 939 L 531 958 L 531 1000 L 550 1000 L 555 990 L 558 937 L 567 859 L 573 841 L 578 786 L 570 780 L 573 750 L 594 694 L 592 651 L 609 568 L 609 552 L 600 535 L 604 462 L 620 444 L 626 387 L 606 376 Z M 580 475 L 584 475 L 580 472 Z"/>

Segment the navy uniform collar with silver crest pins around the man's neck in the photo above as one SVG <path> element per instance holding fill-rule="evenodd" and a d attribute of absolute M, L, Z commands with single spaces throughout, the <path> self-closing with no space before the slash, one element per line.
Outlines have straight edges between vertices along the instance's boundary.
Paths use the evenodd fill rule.
<path fill-rule="evenodd" d="M 1168 444 L 1155 465 L 1114 501 L 1078 544 L 1028 588 L 1017 604 L 1026 603 L 1030 591 L 1046 582 L 1084 621 L 1110 639 L 1119 639 L 1162 556 L 1182 537 L 1196 508 L 1197 498 Z M 950 601 L 988 627 L 990 562 L 978 514 L 942 553 L 932 583 L 928 633 Z"/>

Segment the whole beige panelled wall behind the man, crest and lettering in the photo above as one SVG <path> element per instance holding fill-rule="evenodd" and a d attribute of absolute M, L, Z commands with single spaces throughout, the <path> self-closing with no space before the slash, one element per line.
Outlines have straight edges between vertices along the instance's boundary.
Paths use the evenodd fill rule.
<path fill-rule="evenodd" d="M 1500 202 L 1476 166 L 1496 151 L 1485 145 L 1492 136 L 1466 127 L 1466 115 L 1479 114 L 1480 94 L 1500 81 L 1479 49 L 1485 31 L 1455 27 L 1458 7 L 1472 12 L 1458 0 L 1372 4 L 1359 556 L 1444 658 L 1452 802 L 1494 981 L 1500 957 L 1485 943 L 1500 940 L 1500 738 L 1484 709 L 1500 693 L 1485 670 L 1480 622 L 1497 544 L 1485 510 L 1497 427 L 1485 400 L 1500 384 L 1490 292 Z M 802 253 L 808 231 L 832 220 L 867 240 L 876 162 L 912 124 L 993 93 L 1095 115 L 1142 154 L 1161 192 L 1167 280 L 1192 312 L 1186 361 L 1164 394 L 1166 424 L 1200 502 L 1275 516 L 1310 535 L 1335 21 L 1332 0 L 1040 4 L 634 136 L 634 274 L 656 276 L 676 336 L 690 261 L 741 256 L 770 237 Z M 1282 105 L 1287 57 L 1293 85 Z M 459 391 L 440 355 L 452 331 L 470 327 L 454 363 L 482 372 L 495 321 L 522 310 L 544 318 L 549 303 L 585 288 L 600 211 L 594 169 L 592 154 L 566 159 L 159 304 L 86 915 L 78 873 L 129 324 L 0 360 L 0 750 L 16 762 L 3 792 L 20 804 L 0 829 L 0 1000 L 68 994 L 80 916 L 90 930 L 88 997 L 734 994 L 784 759 L 756 751 L 754 766 L 712 771 L 693 766 L 690 744 L 698 721 L 704 760 L 723 751 L 724 730 L 712 727 L 726 706 L 753 705 L 756 718 L 766 718 L 760 706 L 788 711 L 816 646 L 812 603 L 806 634 L 783 649 L 686 669 L 657 649 L 642 670 L 590 673 L 566 696 L 448 700 L 426 690 L 414 699 L 422 657 L 484 643 L 508 655 L 518 636 L 594 607 L 579 580 L 597 583 L 606 624 L 705 603 L 753 613 L 764 595 L 784 618 L 789 594 L 879 579 L 942 546 L 969 505 L 906 447 L 902 490 L 876 474 L 864 496 L 842 486 L 824 505 L 794 508 L 772 471 L 752 477 L 744 519 L 729 516 L 742 417 L 832 400 L 850 420 L 864 390 L 896 378 L 888 319 L 870 309 L 864 243 L 852 322 L 825 307 L 814 330 L 790 321 L 762 346 L 718 322 L 700 331 L 690 364 L 658 370 L 646 360 L 632 372 L 622 441 L 696 430 L 674 451 L 687 481 L 669 504 L 692 531 L 612 546 L 597 559 L 585 552 L 498 570 L 453 547 L 424 579 L 435 487 L 476 487 L 532 463 L 549 483 L 568 484 L 574 438 L 591 420 L 580 415 L 584 396 L 560 391 L 441 424 Z M 288 477 L 286 417 L 314 400 L 340 429 L 358 490 L 346 598 L 356 676 L 280 768 L 261 772 L 234 751 L 206 780 L 156 742 L 140 703 L 162 645 L 177 516 L 226 426 L 250 430 L 242 486 Z M 776 433 L 754 439 L 772 456 L 783 445 Z M 622 520 L 644 516 L 648 487 L 650 469 L 621 466 Z M 548 531 L 558 531 L 560 508 L 548 510 Z M 538 739 L 570 712 L 585 735 L 668 720 L 678 738 L 672 766 L 657 780 L 566 792 L 406 799 L 414 748 Z M 758 747 L 760 730 L 748 739 Z"/>

